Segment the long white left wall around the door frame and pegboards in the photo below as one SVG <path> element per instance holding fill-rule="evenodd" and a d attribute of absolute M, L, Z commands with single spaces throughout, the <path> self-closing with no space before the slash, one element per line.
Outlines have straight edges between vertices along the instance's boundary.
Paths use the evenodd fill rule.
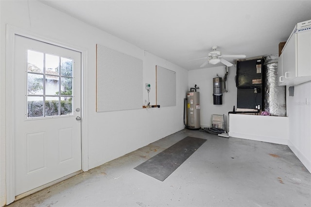
<path fill-rule="evenodd" d="M 28 5 L 29 4 L 29 5 Z M 5 204 L 5 77 L 6 24 L 56 41 L 86 54 L 84 75 L 84 147 L 91 169 L 184 128 L 183 99 L 188 90 L 188 71 L 143 49 L 96 29 L 39 1 L 0 1 L 0 206 Z M 117 25 L 116 25 L 117 26 Z M 176 106 L 119 112 L 96 112 L 96 44 L 143 60 L 143 84 L 151 84 L 150 102 L 155 104 L 155 65 L 176 71 Z M 5 83 L 7 81 L 7 83 Z M 144 88 L 144 86 L 142 86 Z M 143 100 L 148 94 L 143 89 Z M 88 146 L 88 147 L 87 147 Z"/>

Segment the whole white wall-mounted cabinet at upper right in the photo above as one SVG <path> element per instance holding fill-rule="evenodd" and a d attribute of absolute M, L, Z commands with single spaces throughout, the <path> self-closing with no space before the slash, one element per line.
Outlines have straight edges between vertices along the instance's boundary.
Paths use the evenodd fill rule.
<path fill-rule="evenodd" d="M 278 78 L 279 86 L 311 81 L 311 29 L 295 27 L 278 59 Z"/>

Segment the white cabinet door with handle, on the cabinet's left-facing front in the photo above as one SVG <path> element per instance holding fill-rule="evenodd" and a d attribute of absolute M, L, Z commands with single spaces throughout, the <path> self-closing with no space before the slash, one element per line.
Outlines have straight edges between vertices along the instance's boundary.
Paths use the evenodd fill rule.
<path fill-rule="evenodd" d="M 289 82 L 296 76 L 296 34 L 293 34 L 286 43 L 282 52 L 282 75 L 284 81 Z"/>

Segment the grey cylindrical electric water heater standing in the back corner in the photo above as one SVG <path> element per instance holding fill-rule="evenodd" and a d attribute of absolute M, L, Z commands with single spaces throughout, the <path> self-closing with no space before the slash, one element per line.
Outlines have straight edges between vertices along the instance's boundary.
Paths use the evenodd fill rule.
<path fill-rule="evenodd" d="M 200 125 L 200 92 L 187 92 L 187 127 L 199 129 Z"/>

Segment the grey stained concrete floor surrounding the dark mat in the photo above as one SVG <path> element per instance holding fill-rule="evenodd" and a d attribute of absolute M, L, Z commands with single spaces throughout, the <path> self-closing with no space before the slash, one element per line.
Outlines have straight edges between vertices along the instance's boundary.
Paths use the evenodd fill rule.
<path fill-rule="evenodd" d="M 163 182 L 133 169 L 187 137 L 207 141 Z M 9 207 L 310 207 L 311 174 L 286 145 L 181 130 Z"/>

